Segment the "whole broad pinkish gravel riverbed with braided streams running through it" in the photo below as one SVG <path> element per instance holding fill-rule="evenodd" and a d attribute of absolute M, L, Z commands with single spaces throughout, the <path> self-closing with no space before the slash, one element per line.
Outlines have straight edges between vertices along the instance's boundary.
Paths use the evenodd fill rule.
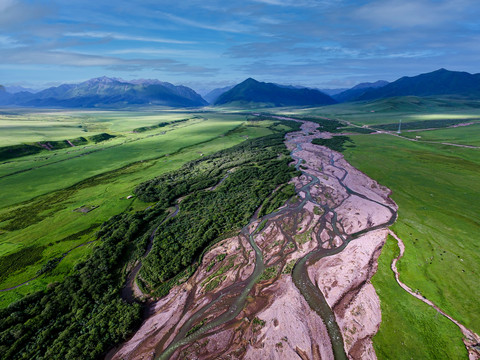
<path fill-rule="evenodd" d="M 381 313 L 370 279 L 396 205 L 341 154 L 312 145 L 330 136 L 317 127 L 303 122 L 286 136 L 303 173 L 292 179 L 299 200 L 214 245 L 111 358 L 325 360 L 338 354 L 338 341 L 345 358 L 376 358 L 371 337 Z M 292 277 L 302 261 L 331 317 Z"/>

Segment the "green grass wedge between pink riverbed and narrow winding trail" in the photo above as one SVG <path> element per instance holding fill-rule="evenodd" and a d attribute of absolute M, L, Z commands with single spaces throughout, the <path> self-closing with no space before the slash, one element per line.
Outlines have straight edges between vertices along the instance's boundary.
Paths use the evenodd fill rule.
<path fill-rule="evenodd" d="M 382 323 L 373 338 L 379 359 L 467 359 L 462 333 L 450 320 L 398 286 L 390 269 L 399 249 L 388 237 L 372 279 L 381 301 Z"/>

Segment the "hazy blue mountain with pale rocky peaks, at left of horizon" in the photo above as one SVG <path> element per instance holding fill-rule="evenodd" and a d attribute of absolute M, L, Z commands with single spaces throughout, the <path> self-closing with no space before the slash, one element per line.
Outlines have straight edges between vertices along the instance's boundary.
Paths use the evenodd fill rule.
<path fill-rule="evenodd" d="M 175 86 L 158 80 L 127 82 L 100 77 L 80 84 L 64 84 L 42 90 L 36 94 L 20 92 L 3 105 L 59 106 L 59 107 L 122 107 L 129 105 L 159 105 L 195 107 L 207 102 L 185 86 Z"/>

